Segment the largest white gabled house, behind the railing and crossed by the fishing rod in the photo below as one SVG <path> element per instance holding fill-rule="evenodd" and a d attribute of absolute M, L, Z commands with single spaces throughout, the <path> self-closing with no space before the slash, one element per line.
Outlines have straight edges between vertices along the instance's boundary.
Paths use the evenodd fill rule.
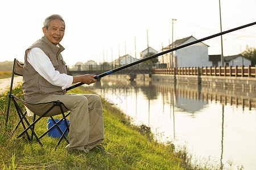
<path fill-rule="evenodd" d="M 174 42 L 174 47 L 187 44 L 197 39 L 193 36 L 186 37 L 184 39 L 179 39 Z M 162 51 L 172 48 L 172 44 L 166 46 Z M 160 63 L 167 63 L 167 67 L 202 67 L 202 66 L 211 66 L 212 62 L 209 61 L 208 56 L 208 45 L 203 42 L 181 48 L 172 53 L 164 54 L 159 57 Z M 173 61 L 172 61 L 172 58 Z M 173 63 L 173 64 L 172 64 Z"/>

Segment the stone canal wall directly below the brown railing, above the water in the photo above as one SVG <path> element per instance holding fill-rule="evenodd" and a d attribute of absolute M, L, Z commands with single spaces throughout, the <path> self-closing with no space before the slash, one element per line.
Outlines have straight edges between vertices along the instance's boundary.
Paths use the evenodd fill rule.
<path fill-rule="evenodd" d="M 256 91 L 256 78 L 205 75 L 152 74 L 152 80 Z"/>

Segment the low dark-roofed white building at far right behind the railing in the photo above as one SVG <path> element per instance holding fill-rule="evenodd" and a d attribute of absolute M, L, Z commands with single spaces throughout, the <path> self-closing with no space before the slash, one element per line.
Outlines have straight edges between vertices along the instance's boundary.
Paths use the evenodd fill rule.
<path fill-rule="evenodd" d="M 209 55 L 209 61 L 212 62 L 212 66 L 221 66 L 221 55 Z M 225 66 L 248 66 L 251 65 L 251 60 L 247 57 L 243 57 L 242 54 L 234 56 L 224 56 Z"/>

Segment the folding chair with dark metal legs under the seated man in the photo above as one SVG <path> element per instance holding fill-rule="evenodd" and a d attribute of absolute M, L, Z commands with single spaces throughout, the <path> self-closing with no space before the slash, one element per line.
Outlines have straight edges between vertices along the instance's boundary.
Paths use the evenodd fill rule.
<path fill-rule="evenodd" d="M 18 128 L 18 126 L 20 124 L 22 124 L 24 130 L 22 131 L 22 133 L 20 133 L 18 135 L 17 138 L 21 137 L 24 133 L 26 133 L 29 141 L 31 141 L 33 136 L 35 136 L 35 138 L 39 142 L 40 146 L 43 146 L 42 142 L 40 141 L 40 138 L 42 138 L 50 130 L 52 130 L 53 128 L 56 127 L 59 130 L 61 137 L 60 137 L 59 142 L 57 143 L 55 149 L 57 148 L 57 146 L 59 145 L 59 143 L 61 142 L 61 140 L 63 138 L 67 141 L 67 143 L 69 143 L 67 137 L 65 136 L 65 133 L 67 133 L 67 131 L 69 132 L 69 124 L 68 124 L 66 118 L 69 116 L 70 112 L 68 112 L 65 115 L 65 112 L 69 111 L 68 108 L 65 107 L 65 105 L 63 103 L 61 103 L 61 101 L 59 101 L 59 100 L 58 101 L 50 101 L 48 103 L 32 104 L 32 103 L 27 103 L 26 101 L 24 101 L 22 99 L 19 99 L 17 96 L 12 94 L 14 75 L 23 76 L 23 64 L 19 63 L 19 61 L 16 58 L 14 59 L 14 64 L 13 64 L 13 74 L 11 75 L 10 92 L 8 94 L 9 101 L 8 101 L 8 107 L 7 107 L 7 113 L 6 113 L 6 124 L 7 124 L 8 117 L 9 117 L 9 111 L 10 111 L 10 103 L 11 103 L 11 101 L 13 101 L 14 106 L 15 106 L 16 111 L 19 116 L 19 122 L 16 125 L 15 129 L 13 130 L 13 134 L 14 134 L 14 131 Z M 18 102 L 22 103 L 24 105 L 24 107 L 26 108 L 26 111 L 24 113 L 22 112 L 22 109 L 20 109 Z M 33 122 L 30 123 L 28 121 L 28 119 L 26 118 L 26 115 L 33 116 L 33 114 L 34 114 Z M 56 122 L 52 116 L 55 116 L 57 114 L 62 114 L 63 117 L 59 121 Z M 36 115 L 38 115 L 39 118 L 36 119 Z M 48 115 L 52 115 L 52 116 L 48 116 Z M 40 137 L 38 137 L 38 135 L 35 133 L 34 128 L 35 128 L 36 122 L 38 122 L 42 117 L 51 117 L 51 120 L 53 121 L 54 125 L 51 128 L 49 128 L 45 133 L 40 135 Z M 64 132 L 59 127 L 60 122 L 63 120 L 67 127 Z M 30 137 L 30 135 L 28 135 L 28 130 L 31 130 L 31 137 Z"/>

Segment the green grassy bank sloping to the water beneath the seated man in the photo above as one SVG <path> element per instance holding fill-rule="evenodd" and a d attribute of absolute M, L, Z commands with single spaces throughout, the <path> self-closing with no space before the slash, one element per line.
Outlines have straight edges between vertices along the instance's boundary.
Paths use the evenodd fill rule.
<path fill-rule="evenodd" d="M 79 87 L 71 92 L 90 93 Z M 21 87 L 14 94 L 23 97 Z M 174 145 L 156 143 L 146 126 L 134 126 L 113 104 L 102 99 L 105 122 L 105 141 L 103 146 L 111 156 L 100 153 L 69 153 L 65 141 L 55 151 L 57 138 L 42 138 L 44 147 L 35 139 L 15 138 L 11 131 L 18 121 L 13 105 L 9 123 L 5 126 L 8 98 L 0 96 L 0 168 L 2 169 L 191 169 L 186 163 L 184 152 L 174 152 Z M 24 109 L 24 108 L 23 108 Z M 36 126 L 37 131 L 46 131 L 47 118 Z"/>

